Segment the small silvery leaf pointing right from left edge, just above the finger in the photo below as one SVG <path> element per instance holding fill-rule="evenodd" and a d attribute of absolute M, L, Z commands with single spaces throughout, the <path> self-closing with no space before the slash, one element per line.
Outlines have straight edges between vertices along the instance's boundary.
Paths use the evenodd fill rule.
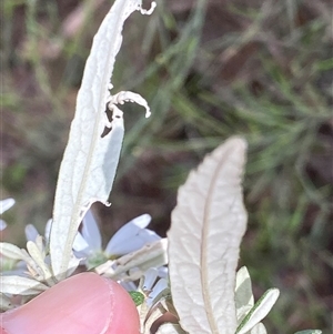
<path fill-rule="evenodd" d="M 32 279 L 21 276 L 0 276 L 0 292 L 20 295 L 39 294 L 48 286 Z"/>

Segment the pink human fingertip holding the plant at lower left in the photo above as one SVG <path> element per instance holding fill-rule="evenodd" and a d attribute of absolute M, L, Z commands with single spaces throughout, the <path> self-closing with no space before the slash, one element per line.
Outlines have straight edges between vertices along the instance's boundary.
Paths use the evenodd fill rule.
<path fill-rule="evenodd" d="M 139 334 L 129 293 L 117 282 L 82 273 L 0 315 L 0 334 Z"/>

